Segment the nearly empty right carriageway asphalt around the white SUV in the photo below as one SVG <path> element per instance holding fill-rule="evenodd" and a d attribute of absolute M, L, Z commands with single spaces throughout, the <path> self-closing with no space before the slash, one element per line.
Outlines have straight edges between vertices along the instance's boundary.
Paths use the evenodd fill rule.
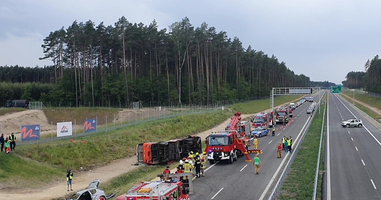
<path fill-rule="evenodd" d="M 381 200 L 381 131 L 337 94 L 328 94 L 323 199 Z M 362 128 L 343 128 L 351 118 Z"/>

